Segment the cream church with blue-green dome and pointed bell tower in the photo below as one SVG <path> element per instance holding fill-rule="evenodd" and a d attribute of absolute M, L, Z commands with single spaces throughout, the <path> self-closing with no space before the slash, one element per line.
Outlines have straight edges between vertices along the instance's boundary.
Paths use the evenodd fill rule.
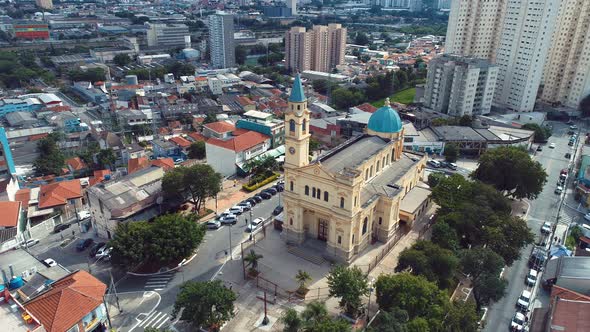
<path fill-rule="evenodd" d="M 307 99 L 299 75 L 285 113 L 283 238 L 325 242 L 321 255 L 349 263 L 372 241 L 386 243 L 427 207 L 426 156 L 403 151 L 404 130 L 389 100 L 364 135 L 312 160 Z M 321 243 L 320 242 L 320 243 Z"/>

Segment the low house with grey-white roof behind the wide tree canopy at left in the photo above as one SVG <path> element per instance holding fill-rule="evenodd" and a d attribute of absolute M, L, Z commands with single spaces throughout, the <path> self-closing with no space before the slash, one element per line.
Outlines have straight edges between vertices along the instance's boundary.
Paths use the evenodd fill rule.
<path fill-rule="evenodd" d="M 148 167 L 86 190 L 98 236 L 112 239 L 119 223 L 149 220 L 161 213 L 164 169 Z"/>

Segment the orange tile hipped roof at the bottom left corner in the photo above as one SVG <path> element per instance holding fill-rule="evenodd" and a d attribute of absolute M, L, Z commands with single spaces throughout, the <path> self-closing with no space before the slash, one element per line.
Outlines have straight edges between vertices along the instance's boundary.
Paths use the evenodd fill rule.
<path fill-rule="evenodd" d="M 103 303 L 107 286 L 86 271 L 77 271 L 51 284 L 25 303 L 48 332 L 67 331 Z"/>

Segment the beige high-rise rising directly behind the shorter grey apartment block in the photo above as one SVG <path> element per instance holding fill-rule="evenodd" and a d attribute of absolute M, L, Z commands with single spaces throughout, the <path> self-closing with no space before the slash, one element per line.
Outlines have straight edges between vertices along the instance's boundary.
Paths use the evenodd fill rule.
<path fill-rule="evenodd" d="M 494 62 L 506 1 L 452 1 L 445 52 Z"/>

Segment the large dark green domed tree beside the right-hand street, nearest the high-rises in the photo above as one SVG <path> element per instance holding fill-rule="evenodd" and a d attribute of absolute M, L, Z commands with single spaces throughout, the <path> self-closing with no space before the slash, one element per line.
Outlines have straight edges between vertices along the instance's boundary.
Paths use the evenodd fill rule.
<path fill-rule="evenodd" d="M 543 166 L 526 150 L 513 146 L 487 150 L 471 177 L 517 199 L 537 198 L 547 182 Z"/>

